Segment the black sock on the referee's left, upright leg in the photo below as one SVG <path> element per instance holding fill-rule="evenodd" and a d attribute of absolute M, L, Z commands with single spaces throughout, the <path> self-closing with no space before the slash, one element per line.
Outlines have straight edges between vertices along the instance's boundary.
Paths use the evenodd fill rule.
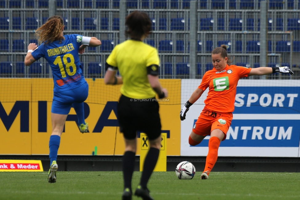
<path fill-rule="evenodd" d="M 122 170 L 124 179 L 124 189 L 129 188 L 131 191 L 131 180 L 134 170 L 135 152 L 126 151 L 123 155 Z"/>

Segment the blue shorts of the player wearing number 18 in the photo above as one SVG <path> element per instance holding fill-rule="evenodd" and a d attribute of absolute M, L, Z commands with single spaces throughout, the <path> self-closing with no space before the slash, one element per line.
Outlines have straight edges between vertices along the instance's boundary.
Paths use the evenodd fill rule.
<path fill-rule="evenodd" d="M 85 83 L 72 90 L 54 92 L 51 113 L 69 114 L 73 103 L 83 103 L 89 94 L 89 85 Z"/>

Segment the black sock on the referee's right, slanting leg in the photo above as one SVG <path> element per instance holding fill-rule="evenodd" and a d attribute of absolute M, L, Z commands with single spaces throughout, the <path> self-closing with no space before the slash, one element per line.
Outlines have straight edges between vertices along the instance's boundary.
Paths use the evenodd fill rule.
<path fill-rule="evenodd" d="M 159 156 L 159 149 L 156 149 L 154 147 L 151 147 L 148 151 L 148 154 L 145 158 L 144 161 L 144 170 L 142 173 L 142 177 L 141 177 L 141 181 L 140 181 L 140 185 L 142 186 L 142 188 L 147 188 L 147 183 L 150 179 L 150 176 L 156 166 L 156 162 L 158 160 L 158 156 Z"/>

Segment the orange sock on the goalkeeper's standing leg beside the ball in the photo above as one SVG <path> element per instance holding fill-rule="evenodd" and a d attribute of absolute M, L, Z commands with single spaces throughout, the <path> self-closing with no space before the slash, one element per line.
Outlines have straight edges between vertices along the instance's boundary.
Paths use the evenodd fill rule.
<path fill-rule="evenodd" d="M 214 167 L 215 163 L 218 159 L 218 149 L 220 146 L 220 139 L 217 137 L 209 138 L 208 142 L 208 154 L 206 157 L 205 168 L 203 172 L 207 172 L 207 175 L 211 172 L 212 168 Z"/>

